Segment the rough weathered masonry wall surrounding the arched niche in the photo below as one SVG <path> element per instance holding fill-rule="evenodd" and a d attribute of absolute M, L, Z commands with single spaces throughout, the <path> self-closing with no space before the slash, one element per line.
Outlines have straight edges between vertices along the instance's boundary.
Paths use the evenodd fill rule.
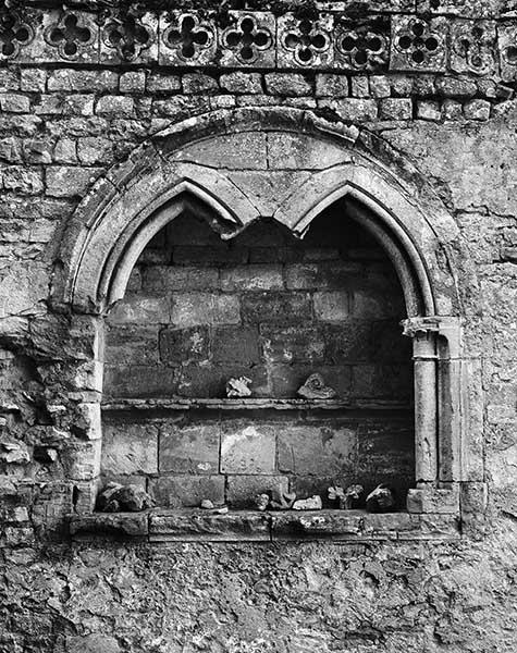
<path fill-rule="evenodd" d="M 144 21 L 156 35 L 147 40 L 135 33 L 131 12 L 115 12 L 116 25 L 133 28 L 124 34 L 140 34 L 127 46 L 126 36 L 106 44 L 101 30 L 111 21 L 113 33 L 113 21 L 97 16 L 95 4 L 81 5 L 79 28 L 87 20 L 88 35 L 74 32 L 75 24 L 64 28 L 50 4 L 26 4 L 14 17 L 2 7 L 0 27 L 0 651 L 515 651 L 512 2 L 328 3 L 336 12 L 320 25 L 331 35 L 324 42 L 313 25 L 307 36 L 296 23 L 304 17 L 299 3 L 287 8 L 294 14 L 274 3 L 262 21 L 274 38 L 258 39 L 266 59 L 254 61 L 217 45 L 227 25 L 221 12 L 212 20 L 208 5 L 200 20 L 214 40 L 194 59 L 188 51 L 179 59 L 183 39 L 163 41 L 170 19 L 158 15 L 161 8 Z M 309 9 L 313 21 L 317 8 Z M 292 50 L 278 38 L 285 23 L 298 38 L 288 39 Z M 422 24 L 427 32 L 418 34 Z M 337 41 L 346 29 L 361 47 L 347 34 Z M 374 41 L 379 35 L 383 40 Z M 310 47 L 298 47 L 307 38 Z M 63 234 L 76 224 L 81 200 L 86 211 L 99 187 L 107 202 L 113 184 L 131 197 L 127 170 L 141 163 L 130 157 L 136 147 L 163 130 L 174 134 L 181 120 L 192 119 L 192 137 L 209 113 L 244 108 L 256 109 L 257 125 L 268 108 L 303 110 L 300 133 L 313 115 L 327 121 L 348 138 L 329 150 L 341 148 L 361 165 L 368 152 L 411 206 L 439 207 L 430 212 L 433 230 L 448 231 L 448 238 L 428 263 L 446 276 L 455 261 L 454 315 L 461 317 L 473 380 L 468 438 L 477 476 L 470 467 L 463 537 L 454 543 L 429 533 L 354 543 L 67 539 L 65 516 L 91 501 L 100 444 L 90 436 L 100 420 L 98 318 L 53 300 L 67 264 L 60 258 Z M 237 118 L 225 120 L 230 130 Z M 315 158 L 284 152 L 295 168 Z M 251 190 L 259 206 L 263 197 Z M 275 190 L 287 193 L 281 184 Z M 419 247 L 427 245 L 426 236 Z M 479 479 L 487 506 L 472 498 Z"/>

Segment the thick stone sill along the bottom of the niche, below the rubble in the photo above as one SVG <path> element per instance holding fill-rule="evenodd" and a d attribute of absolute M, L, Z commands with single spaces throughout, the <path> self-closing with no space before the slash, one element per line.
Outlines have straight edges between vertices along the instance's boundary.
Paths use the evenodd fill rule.
<path fill-rule="evenodd" d="M 91 513 L 69 517 L 74 541 L 115 539 L 144 542 L 275 542 L 282 540 L 374 542 L 457 540 L 456 515 L 364 510 L 231 510 L 153 508 L 144 513 Z"/>

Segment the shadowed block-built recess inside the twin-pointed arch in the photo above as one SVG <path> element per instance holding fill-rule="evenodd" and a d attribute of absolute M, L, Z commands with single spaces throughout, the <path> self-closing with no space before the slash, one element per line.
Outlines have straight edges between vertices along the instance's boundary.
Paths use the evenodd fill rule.
<path fill-rule="evenodd" d="M 335 482 L 389 483 L 404 507 L 415 485 L 406 317 L 391 261 L 342 201 L 301 239 L 272 220 L 222 239 L 184 211 L 107 317 L 103 478 L 172 508 L 249 508 L 274 489 L 327 500 Z M 335 398 L 297 397 L 313 372 Z M 227 399 L 238 375 L 253 395 Z"/>

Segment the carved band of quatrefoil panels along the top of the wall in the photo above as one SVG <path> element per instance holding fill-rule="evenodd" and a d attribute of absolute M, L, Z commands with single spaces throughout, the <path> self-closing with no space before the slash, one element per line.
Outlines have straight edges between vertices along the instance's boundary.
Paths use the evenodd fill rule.
<path fill-rule="evenodd" d="M 310 17 L 266 11 L 21 7 L 0 14 L 0 61 L 454 72 L 517 81 L 515 19 L 468 20 L 457 17 L 458 12 L 451 8 L 446 12 L 453 15 L 447 16 L 433 15 L 432 8 L 414 14 L 394 13 L 401 2 L 395 7 L 376 2 L 377 13 L 353 17 L 340 4 L 329 3 L 337 11 L 315 11 Z M 411 10 L 399 7 L 398 11 L 405 9 Z"/>

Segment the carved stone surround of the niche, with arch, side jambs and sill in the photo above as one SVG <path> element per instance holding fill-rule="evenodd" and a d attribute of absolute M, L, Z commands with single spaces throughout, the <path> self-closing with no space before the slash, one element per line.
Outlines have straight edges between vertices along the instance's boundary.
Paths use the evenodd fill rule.
<path fill-rule="evenodd" d="M 455 249 L 446 245 L 459 236 L 433 194 L 421 193 L 416 186 L 410 198 L 401 192 L 403 184 L 394 184 L 392 173 L 385 172 L 390 165 L 397 174 L 397 155 L 386 152 L 386 160 L 377 163 L 379 151 L 372 135 L 330 125 L 298 110 L 219 111 L 189 119 L 162 134 L 155 149 L 137 150 L 128 162 L 110 171 L 108 180 L 96 184 L 63 239 L 59 260 L 66 263 L 54 276 L 52 306 L 65 306 L 75 317 L 88 317 L 100 324 L 109 307 L 124 296 L 131 271 L 146 244 L 185 210 L 216 211 L 223 239 L 244 234 L 264 217 L 303 237 L 325 208 L 337 200 L 345 202 L 355 222 L 383 246 L 404 293 L 406 312 L 397 313 L 397 319 L 408 316 L 404 333 L 414 344 L 416 483 L 408 494 L 407 513 L 355 515 L 341 525 L 333 515 L 317 516 L 313 521 L 312 517 L 307 521 L 300 516 L 293 528 L 285 527 L 293 537 L 317 531 L 318 537 L 328 538 L 340 530 L 341 538 L 343 532 L 354 530 L 356 540 L 403 540 L 409 539 L 406 529 L 416 529 L 411 537 L 426 539 L 430 525 L 442 522 L 458 537 L 458 518 L 465 532 L 476 527 L 484 510 L 482 428 L 473 414 L 481 402 L 469 401 L 469 395 L 478 392 L 479 364 L 464 348 L 461 318 L 451 317 L 459 316 L 460 307 L 456 280 L 450 272 L 457 267 Z M 271 184 L 268 195 L 263 192 L 266 175 L 282 180 L 284 186 Z M 404 184 L 409 182 L 405 180 Z M 165 205 L 167 210 L 160 210 Z M 438 264 L 442 256 L 447 258 L 447 266 Z M 468 266 L 468 261 L 463 264 Z M 102 347 L 94 349 L 93 359 L 75 370 L 76 377 L 81 372 L 76 384 L 81 381 L 84 392 L 71 397 L 83 403 L 90 451 L 89 457 L 87 452 L 78 452 L 78 465 L 74 467 L 73 479 L 83 483 L 84 495 L 79 496 L 77 514 L 83 507 L 85 513 L 91 510 L 100 473 L 99 445 L 106 436 L 99 405 L 104 360 L 98 353 Z M 88 402 L 90 405 L 86 405 Z M 242 517 L 248 518 L 249 514 Z M 182 518 L 183 526 L 174 521 L 174 516 L 163 522 L 152 516 L 149 519 L 140 525 L 141 529 L 155 529 L 160 531 L 160 539 L 185 529 L 189 537 L 199 537 L 194 532 L 201 519 L 197 513 L 194 526 L 189 517 Z M 242 530 L 244 522 L 231 512 L 227 520 L 234 519 Z M 285 532 L 280 518 L 274 522 L 272 519 L 263 527 L 264 539 Z M 262 517 L 258 521 L 262 533 Z M 216 527 L 210 522 L 202 528 L 212 533 Z M 230 527 L 225 521 L 221 528 Z M 140 534 L 150 538 L 150 530 Z M 186 535 L 177 534 L 181 537 Z M 435 537 L 441 539 L 442 530 Z M 239 538 L 242 534 L 236 535 Z"/>

